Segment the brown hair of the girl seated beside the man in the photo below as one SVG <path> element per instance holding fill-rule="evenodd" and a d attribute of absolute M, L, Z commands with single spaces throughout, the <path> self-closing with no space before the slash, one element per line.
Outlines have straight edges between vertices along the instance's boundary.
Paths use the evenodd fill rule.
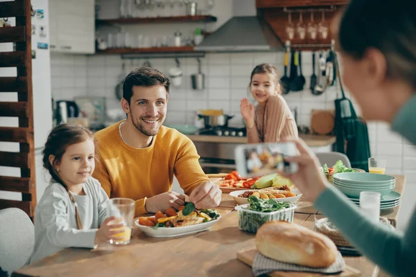
<path fill-rule="evenodd" d="M 43 167 L 49 171 L 52 179 L 64 186 L 64 188 L 67 188 L 67 186 L 65 186 L 58 176 L 55 171 L 55 166 L 60 163 L 62 155 L 67 150 L 68 146 L 82 143 L 87 139 L 92 139 L 92 141 L 94 141 L 94 135 L 89 129 L 79 125 L 58 125 L 52 129 L 51 133 L 49 133 L 43 150 Z M 49 156 L 51 155 L 55 157 L 53 164 L 49 162 Z"/>

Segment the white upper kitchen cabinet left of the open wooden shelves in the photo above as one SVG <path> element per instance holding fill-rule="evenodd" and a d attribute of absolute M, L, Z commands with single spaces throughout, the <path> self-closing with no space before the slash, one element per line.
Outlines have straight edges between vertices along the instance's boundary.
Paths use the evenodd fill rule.
<path fill-rule="evenodd" d="M 51 51 L 95 52 L 94 0 L 49 1 Z"/>

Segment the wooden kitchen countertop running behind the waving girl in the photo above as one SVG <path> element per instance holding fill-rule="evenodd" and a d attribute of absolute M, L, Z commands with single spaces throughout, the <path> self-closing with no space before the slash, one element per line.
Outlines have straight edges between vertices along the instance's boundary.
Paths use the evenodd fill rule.
<path fill-rule="evenodd" d="M 194 143 L 247 143 L 247 137 L 243 136 L 200 136 L 187 135 Z M 312 134 L 300 134 L 299 137 L 305 141 L 309 147 L 322 147 L 332 145 L 336 141 L 335 136 L 317 136 Z"/>

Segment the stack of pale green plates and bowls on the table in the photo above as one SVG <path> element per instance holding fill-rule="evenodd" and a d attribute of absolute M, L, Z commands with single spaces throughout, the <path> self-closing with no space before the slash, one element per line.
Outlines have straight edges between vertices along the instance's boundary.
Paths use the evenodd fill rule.
<path fill-rule="evenodd" d="M 344 172 L 333 175 L 333 185 L 347 195 L 352 202 L 360 203 L 362 191 L 376 191 L 381 194 L 380 208 L 394 208 L 400 204 L 400 193 L 393 191 L 396 178 L 366 172 Z"/>

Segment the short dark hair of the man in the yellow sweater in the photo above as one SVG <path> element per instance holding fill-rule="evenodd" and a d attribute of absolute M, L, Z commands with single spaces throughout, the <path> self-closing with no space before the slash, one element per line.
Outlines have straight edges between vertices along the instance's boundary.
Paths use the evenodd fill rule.
<path fill-rule="evenodd" d="M 133 86 L 152 87 L 155 84 L 162 84 L 169 93 L 171 81 L 164 73 L 150 67 L 139 67 L 128 73 L 123 83 L 123 98 L 130 104 L 133 95 Z"/>

